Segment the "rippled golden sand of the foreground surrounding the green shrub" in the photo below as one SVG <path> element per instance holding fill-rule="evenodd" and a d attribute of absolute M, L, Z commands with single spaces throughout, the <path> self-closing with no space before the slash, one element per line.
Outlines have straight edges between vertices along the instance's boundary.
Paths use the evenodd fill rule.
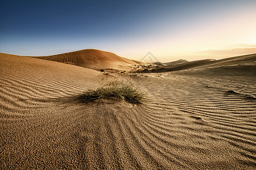
<path fill-rule="evenodd" d="M 255 70 L 104 75 L 0 54 L 0 169 L 255 169 Z M 144 103 L 75 99 L 113 77 Z"/>

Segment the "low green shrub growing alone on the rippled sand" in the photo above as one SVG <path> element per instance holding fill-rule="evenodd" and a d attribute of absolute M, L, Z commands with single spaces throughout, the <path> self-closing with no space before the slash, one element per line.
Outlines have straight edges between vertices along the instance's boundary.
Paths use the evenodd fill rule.
<path fill-rule="evenodd" d="M 142 103 L 144 93 L 120 80 L 106 83 L 96 90 L 88 90 L 79 96 L 84 102 L 115 97 L 130 103 Z"/>

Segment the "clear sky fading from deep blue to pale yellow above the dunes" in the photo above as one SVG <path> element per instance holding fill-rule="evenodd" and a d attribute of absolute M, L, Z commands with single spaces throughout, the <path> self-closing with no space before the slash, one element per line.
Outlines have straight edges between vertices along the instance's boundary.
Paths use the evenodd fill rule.
<path fill-rule="evenodd" d="M 255 0 L 0 1 L 0 52 L 100 49 L 158 61 L 256 53 Z"/>

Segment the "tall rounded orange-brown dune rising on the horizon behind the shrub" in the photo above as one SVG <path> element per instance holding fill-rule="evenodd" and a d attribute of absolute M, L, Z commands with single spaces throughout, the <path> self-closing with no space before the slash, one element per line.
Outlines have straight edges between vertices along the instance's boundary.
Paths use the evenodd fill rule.
<path fill-rule="evenodd" d="M 84 49 L 76 52 L 57 54 L 53 56 L 36 57 L 51 61 L 69 63 L 89 69 L 122 69 L 129 70 L 131 66 L 137 65 L 138 61 L 117 56 L 114 53 L 96 49 Z"/>

